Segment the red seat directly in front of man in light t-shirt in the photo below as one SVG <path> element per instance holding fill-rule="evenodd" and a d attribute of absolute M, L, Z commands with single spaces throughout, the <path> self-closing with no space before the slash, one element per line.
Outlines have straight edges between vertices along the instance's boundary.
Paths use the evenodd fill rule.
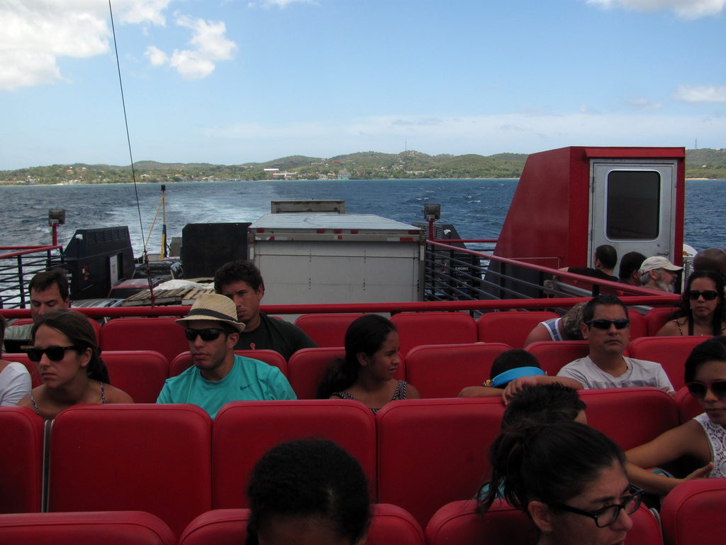
<path fill-rule="evenodd" d="M 678 425 L 673 398 L 657 388 L 587 389 L 579 393 L 587 405 L 587 424 L 624 451 L 648 443 Z"/>

